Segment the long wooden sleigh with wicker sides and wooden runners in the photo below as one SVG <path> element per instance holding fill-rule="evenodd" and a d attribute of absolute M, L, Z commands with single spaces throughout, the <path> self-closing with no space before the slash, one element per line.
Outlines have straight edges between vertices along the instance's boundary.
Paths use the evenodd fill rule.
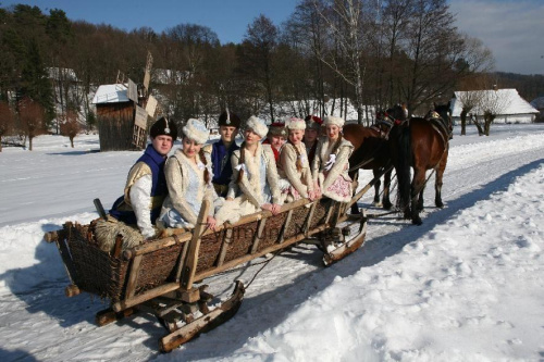
<path fill-rule="evenodd" d="M 66 222 L 62 229 L 47 233 L 45 240 L 57 244 L 71 280 L 67 297 L 86 291 L 111 301 L 110 308 L 97 313 L 98 325 L 137 311 L 150 312 L 168 329 L 159 346 L 170 352 L 228 320 L 242 303 L 245 288 L 237 280 L 232 296 L 210 310 L 213 296 L 205 290 L 207 286 L 196 286 L 202 279 L 297 242 L 317 244 L 325 265 L 357 250 L 364 241 L 367 217 L 364 213 L 350 217 L 346 211 L 371 184 L 348 203 L 302 199 L 284 204 L 276 215 L 262 211 L 234 225 L 225 223 L 217 232 L 206 228 L 211 205 L 205 202 L 194 230 L 169 229 L 170 236 L 124 251 L 121 236 L 113 252 L 98 248 L 94 242 L 97 221 Z"/>

